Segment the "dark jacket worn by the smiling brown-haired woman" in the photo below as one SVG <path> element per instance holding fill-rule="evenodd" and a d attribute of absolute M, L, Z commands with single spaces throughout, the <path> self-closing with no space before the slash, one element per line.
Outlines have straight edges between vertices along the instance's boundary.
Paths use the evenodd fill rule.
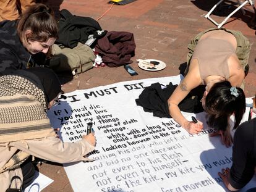
<path fill-rule="evenodd" d="M 17 34 L 16 25 L 17 20 L 0 22 L 0 74 L 39 66 L 45 61 L 45 54 L 38 53 L 32 56 L 24 48 Z"/>

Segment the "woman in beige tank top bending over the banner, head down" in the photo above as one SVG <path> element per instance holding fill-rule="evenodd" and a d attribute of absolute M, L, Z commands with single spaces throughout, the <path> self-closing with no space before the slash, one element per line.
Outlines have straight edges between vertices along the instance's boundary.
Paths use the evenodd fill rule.
<path fill-rule="evenodd" d="M 240 31 L 212 28 L 195 36 L 188 48 L 185 78 L 168 99 L 169 114 L 190 134 L 200 132 L 203 123 L 189 122 L 181 114 L 178 105 L 190 91 L 200 85 L 206 85 L 203 99 L 205 111 L 209 113 L 207 123 L 220 130 L 218 133 L 221 135 L 221 141 L 226 146 L 231 146 L 228 120 L 234 113 L 236 128 L 245 111 L 245 96 L 237 87 L 244 87 L 244 78 L 249 70 L 250 43 Z M 222 81 L 224 83 L 221 83 Z M 233 90 L 236 93 L 233 94 Z"/>

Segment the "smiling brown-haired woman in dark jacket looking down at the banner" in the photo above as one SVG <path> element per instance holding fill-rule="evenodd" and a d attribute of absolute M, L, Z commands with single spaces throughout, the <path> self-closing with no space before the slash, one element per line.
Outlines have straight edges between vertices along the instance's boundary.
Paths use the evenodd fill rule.
<path fill-rule="evenodd" d="M 35 4 L 19 20 L 0 22 L 0 74 L 45 64 L 45 56 L 58 38 L 53 10 Z"/>

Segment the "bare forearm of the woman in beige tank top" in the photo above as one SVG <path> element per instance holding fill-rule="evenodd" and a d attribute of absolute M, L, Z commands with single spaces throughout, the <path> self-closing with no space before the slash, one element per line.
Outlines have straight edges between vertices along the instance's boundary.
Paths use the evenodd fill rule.
<path fill-rule="evenodd" d="M 179 109 L 179 107 L 176 104 L 173 104 L 169 101 L 168 101 L 168 106 L 169 106 L 169 114 L 171 115 L 171 117 L 174 120 L 176 120 L 176 122 L 179 123 L 181 127 L 187 130 L 187 124 L 189 123 L 189 121 L 181 114 L 181 110 Z"/>

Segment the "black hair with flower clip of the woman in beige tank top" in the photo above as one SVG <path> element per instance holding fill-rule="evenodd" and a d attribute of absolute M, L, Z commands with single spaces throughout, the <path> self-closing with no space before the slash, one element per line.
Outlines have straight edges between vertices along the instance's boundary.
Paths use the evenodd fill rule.
<path fill-rule="evenodd" d="M 245 112 L 245 95 L 241 88 L 233 88 L 237 94 L 231 94 L 231 83 L 221 81 L 215 83 L 205 98 L 207 124 L 217 130 L 226 130 L 228 119 L 234 113 L 234 129 L 237 128 Z"/>

